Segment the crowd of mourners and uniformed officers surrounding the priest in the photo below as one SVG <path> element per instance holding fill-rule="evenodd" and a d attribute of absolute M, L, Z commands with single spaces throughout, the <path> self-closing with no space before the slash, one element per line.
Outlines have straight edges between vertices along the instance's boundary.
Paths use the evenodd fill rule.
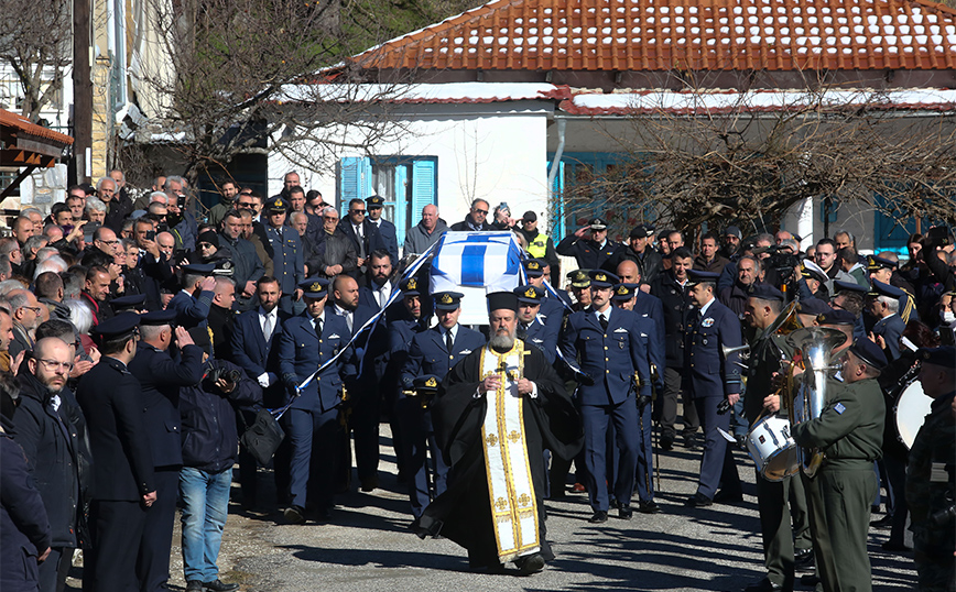
<path fill-rule="evenodd" d="M 652 454 L 683 447 L 702 453 L 687 506 L 740 503 L 732 450 L 793 404 L 781 377 L 782 362 L 800 358 L 787 317 L 845 339 L 823 414 L 793 427 L 801 447 L 824 451 L 819 473 L 757 478 L 767 577 L 747 590 L 867 589 L 870 529 L 886 533 L 887 551 L 914 553 L 921 588 L 956 586 L 948 229 L 912 234 L 905 259 L 863 254 L 846 230 L 805 250 L 785 229 L 735 226 L 688 242 L 642 223 L 616 242 L 594 218 L 555 241 L 535 212 L 513 218 L 478 199 L 450 227 L 425 206 L 400 245 L 382 197 L 352 199 L 340 216 L 296 173 L 283 182 L 269 197 L 222 182 L 206 209 L 182 177 L 134 190 L 113 171 L 70 187 L 48 215 L 25 208 L 10 221 L 0 238 L 4 592 L 63 590 L 79 550 L 86 590 L 162 590 L 177 507 L 187 590 L 237 589 L 217 567 L 233 479 L 243 508 L 335 519 L 337 494 L 380 486 L 382 421 L 421 520 L 455 478 L 430 399 L 487 341 L 458 324 L 460 294 L 430 293 L 426 266 L 402 273 L 449 230 L 513 233 L 526 277 L 514 290 L 518 337 L 575 393 L 583 450 L 546 457 L 542 495 L 587 495 L 593 524 L 661 512 Z M 916 382 L 934 399 L 928 443 L 925 429 L 902 441 L 894 420 Z M 239 446 L 262 409 L 284 430 L 271 460 Z M 262 491 L 270 470 L 274 498 Z M 849 509 L 837 516 L 835 504 Z"/>

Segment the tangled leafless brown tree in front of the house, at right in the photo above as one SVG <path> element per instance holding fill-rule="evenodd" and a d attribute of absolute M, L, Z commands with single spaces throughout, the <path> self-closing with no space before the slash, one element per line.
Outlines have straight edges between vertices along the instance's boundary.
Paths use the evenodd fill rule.
<path fill-rule="evenodd" d="M 705 223 L 773 229 L 810 198 L 867 204 L 900 222 L 956 218 L 953 118 L 912 117 L 886 94 L 826 88 L 776 91 L 787 98 L 768 110 L 773 92 L 740 92 L 719 108 L 719 95 L 694 90 L 681 94 L 680 109 L 663 99 L 634 106 L 627 132 L 612 134 L 627 158 L 573 179 L 566 215 L 580 222 L 604 211 L 620 231 L 661 219 L 691 234 Z"/>

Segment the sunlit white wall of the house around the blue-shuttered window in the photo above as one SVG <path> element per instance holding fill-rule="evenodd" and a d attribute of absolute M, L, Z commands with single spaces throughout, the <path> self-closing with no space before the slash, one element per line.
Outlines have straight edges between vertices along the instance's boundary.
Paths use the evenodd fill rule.
<path fill-rule="evenodd" d="M 437 157 L 438 211 L 448 224 L 464 219 L 476 198 L 487 199 L 491 208 L 504 201 L 515 217 L 526 210 L 546 216 L 550 109 L 543 101 L 408 106 L 394 114 L 402 127 L 395 138 L 377 143 L 369 153 L 343 151 L 337 157 Z M 362 139 L 346 133 L 341 140 Z M 270 195 L 282 189 L 287 171 L 296 171 L 303 187 L 318 189 L 330 204 L 338 179 L 335 162 L 324 164 L 321 171 L 309 171 L 280 151 L 270 151 Z"/>

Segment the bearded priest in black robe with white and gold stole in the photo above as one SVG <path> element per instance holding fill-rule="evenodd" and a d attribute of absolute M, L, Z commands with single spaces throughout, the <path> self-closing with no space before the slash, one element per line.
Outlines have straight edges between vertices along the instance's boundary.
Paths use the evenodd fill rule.
<path fill-rule="evenodd" d="M 416 528 L 420 537 L 442 535 L 465 547 L 472 569 L 500 573 L 513 561 L 530 574 L 554 558 L 545 540 L 542 450 L 573 458 L 580 420 L 541 351 L 515 339 L 514 294 L 490 294 L 488 308 L 491 339 L 452 369 L 433 405 L 452 472 Z"/>

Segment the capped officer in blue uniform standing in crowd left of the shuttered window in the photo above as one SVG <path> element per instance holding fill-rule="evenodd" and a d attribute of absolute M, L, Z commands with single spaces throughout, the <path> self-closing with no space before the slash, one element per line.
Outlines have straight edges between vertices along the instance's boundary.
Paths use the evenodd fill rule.
<path fill-rule="evenodd" d="M 305 263 L 298 232 L 285 226 L 289 202 L 280 196 L 265 204 L 264 209 L 268 222 L 265 235 L 272 246 L 273 273 L 282 288 L 279 309 L 286 315 L 302 313 L 305 304 L 302 303 L 298 284 L 305 279 Z"/>

